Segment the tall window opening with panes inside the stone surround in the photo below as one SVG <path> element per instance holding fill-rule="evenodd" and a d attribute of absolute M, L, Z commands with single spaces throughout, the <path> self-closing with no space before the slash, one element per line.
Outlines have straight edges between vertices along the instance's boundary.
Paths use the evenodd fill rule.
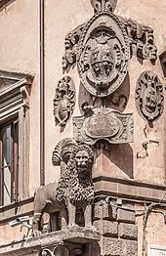
<path fill-rule="evenodd" d="M 0 126 L 0 205 L 18 200 L 19 122 Z"/>

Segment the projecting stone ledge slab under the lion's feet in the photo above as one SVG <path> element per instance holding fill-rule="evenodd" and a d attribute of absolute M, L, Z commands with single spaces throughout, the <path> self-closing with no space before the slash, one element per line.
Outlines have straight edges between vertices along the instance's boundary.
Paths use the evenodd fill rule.
<path fill-rule="evenodd" d="M 31 255 L 45 247 L 56 247 L 64 243 L 86 244 L 99 241 L 100 235 L 84 228 L 68 228 L 67 230 L 53 232 L 50 234 L 39 235 L 35 237 L 26 237 L 21 240 L 15 240 L 12 243 L 0 244 L 0 255 Z M 31 254 L 30 254 L 31 253 Z M 57 254 L 56 254 L 57 255 Z"/>

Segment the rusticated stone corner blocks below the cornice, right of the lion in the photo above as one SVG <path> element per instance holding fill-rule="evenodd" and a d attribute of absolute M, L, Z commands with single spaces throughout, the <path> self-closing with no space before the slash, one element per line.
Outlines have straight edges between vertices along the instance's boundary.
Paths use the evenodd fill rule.
<path fill-rule="evenodd" d="M 94 226 L 102 235 L 102 255 L 138 255 L 138 228 L 130 203 L 99 201 L 94 206 Z"/>

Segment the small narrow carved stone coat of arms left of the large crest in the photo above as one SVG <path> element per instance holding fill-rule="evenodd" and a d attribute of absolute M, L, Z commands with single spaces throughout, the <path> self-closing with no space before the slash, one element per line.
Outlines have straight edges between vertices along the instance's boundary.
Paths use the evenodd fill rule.
<path fill-rule="evenodd" d="M 58 83 L 54 99 L 56 125 L 64 126 L 75 106 L 75 87 L 70 76 L 64 76 Z"/>

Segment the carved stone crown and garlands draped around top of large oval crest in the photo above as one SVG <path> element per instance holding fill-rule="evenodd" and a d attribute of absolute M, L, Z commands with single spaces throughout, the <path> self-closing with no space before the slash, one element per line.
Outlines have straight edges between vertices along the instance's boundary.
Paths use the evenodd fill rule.
<path fill-rule="evenodd" d="M 115 10 L 116 3 L 117 0 L 91 0 L 91 4 L 94 7 L 94 11 L 96 14 L 93 19 L 98 18 L 99 14 L 101 15 L 101 13 L 103 12 L 107 12 L 110 15 L 111 19 L 116 18 L 115 21 L 117 21 L 118 24 L 120 22 L 120 28 L 122 29 L 121 32 L 123 33 L 123 35 L 125 34 L 125 38 L 127 35 L 127 41 L 129 41 L 130 44 L 131 57 L 135 55 L 143 60 L 149 60 L 154 63 L 157 59 L 157 48 L 154 43 L 153 29 L 145 24 L 140 24 L 137 21 L 132 21 L 131 19 L 127 20 L 121 17 L 115 17 L 112 13 Z M 87 26 L 91 21 L 85 22 L 77 26 L 66 35 L 64 42 L 65 54 L 62 57 L 63 72 L 68 72 L 70 67 L 73 67 L 76 63 L 78 59 L 77 55 L 79 45 L 81 43 L 82 33 L 87 32 Z M 109 27 L 109 25 L 107 26 Z M 115 27 L 116 26 L 112 27 L 113 31 L 115 31 Z M 121 43 L 121 40 L 119 41 L 119 43 Z M 82 47 L 84 47 L 84 45 Z"/>

